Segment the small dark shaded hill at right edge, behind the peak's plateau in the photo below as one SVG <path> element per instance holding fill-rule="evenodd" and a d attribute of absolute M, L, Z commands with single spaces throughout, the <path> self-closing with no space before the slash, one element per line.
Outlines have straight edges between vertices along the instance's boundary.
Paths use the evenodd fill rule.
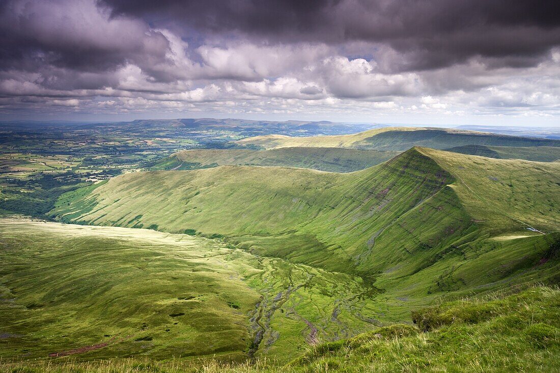
<path fill-rule="evenodd" d="M 508 147 L 465 145 L 446 149 L 451 152 L 478 155 L 490 158 L 525 159 L 537 162 L 554 162 L 560 160 L 560 147 Z"/>

